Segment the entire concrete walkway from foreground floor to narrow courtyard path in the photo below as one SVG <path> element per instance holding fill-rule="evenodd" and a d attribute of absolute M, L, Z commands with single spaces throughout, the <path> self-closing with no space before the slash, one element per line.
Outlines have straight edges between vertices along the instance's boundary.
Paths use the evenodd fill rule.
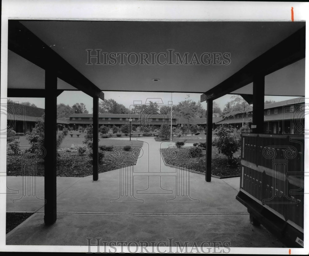
<path fill-rule="evenodd" d="M 204 175 L 164 165 L 159 148 L 169 143 L 134 139 L 144 143 L 133 167 L 101 173 L 98 181 L 91 176 L 57 177 L 57 221 L 51 226 L 44 225 L 40 201 L 44 177 L 36 177 L 34 197 L 21 197 L 23 177 L 7 177 L 11 194 L 6 211 L 36 213 L 6 235 L 6 244 L 87 245 L 86 238 L 150 243 L 174 238 L 181 244 L 188 241 L 188 246 L 194 241 L 227 241 L 231 247 L 283 247 L 263 226 L 250 224 L 247 209 L 235 199 L 239 178 L 206 182 Z M 14 190 L 20 192 L 13 194 Z"/>

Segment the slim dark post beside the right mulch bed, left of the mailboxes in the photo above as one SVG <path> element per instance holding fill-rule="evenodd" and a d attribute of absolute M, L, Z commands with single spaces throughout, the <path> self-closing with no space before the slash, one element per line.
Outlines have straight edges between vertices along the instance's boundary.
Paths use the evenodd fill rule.
<path fill-rule="evenodd" d="M 206 170 L 205 179 L 211 181 L 211 150 L 212 150 L 212 100 L 207 100 L 207 135 L 206 135 Z"/>

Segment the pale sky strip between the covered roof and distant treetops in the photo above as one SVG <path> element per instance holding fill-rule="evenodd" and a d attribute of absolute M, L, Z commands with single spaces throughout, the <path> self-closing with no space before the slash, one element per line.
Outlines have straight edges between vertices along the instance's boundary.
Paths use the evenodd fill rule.
<path fill-rule="evenodd" d="M 192 99 L 196 102 L 200 100 L 200 93 L 190 93 L 189 99 Z M 119 104 L 125 105 L 125 107 L 130 108 L 130 105 L 134 103 L 139 103 L 142 101 L 142 104 L 147 104 L 150 100 L 156 101 L 158 105 L 168 105 L 172 101 L 173 105 L 177 105 L 180 101 L 185 100 L 187 93 L 176 93 L 176 92 L 104 92 L 105 99 L 116 100 Z M 296 98 L 295 96 L 265 96 L 265 100 L 289 100 Z M 10 98 L 11 100 L 18 102 L 29 101 L 30 103 L 35 104 L 39 108 L 44 109 L 44 98 Z M 225 104 L 231 100 L 231 95 L 222 96 L 214 102 L 218 103 L 221 109 L 224 109 Z M 101 100 L 100 100 L 101 101 Z M 65 91 L 62 92 L 57 98 L 57 104 L 64 103 L 66 105 L 74 105 L 75 103 L 84 103 L 86 109 L 89 113 L 92 113 L 92 98 L 87 94 L 80 91 Z M 206 107 L 206 101 L 201 103 L 204 109 Z"/>

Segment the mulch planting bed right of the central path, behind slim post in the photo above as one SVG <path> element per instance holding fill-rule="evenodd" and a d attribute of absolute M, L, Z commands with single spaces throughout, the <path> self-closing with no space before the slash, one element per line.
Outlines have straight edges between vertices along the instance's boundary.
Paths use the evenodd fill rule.
<path fill-rule="evenodd" d="M 167 164 L 171 165 L 179 165 L 182 161 L 186 162 L 183 166 L 184 168 L 205 173 L 205 149 L 201 151 L 201 155 L 199 157 L 188 157 L 188 150 L 194 147 L 181 147 L 176 148 L 173 147 L 177 151 L 167 151 L 167 149 L 161 149 L 161 154 Z M 176 157 L 177 154 L 178 156 Z M 235 157 L 239 156 L 240 152 L 235 153 Z M 174 158 L 175 157 L 175 158 Z M 187 164 L 189 163 L 189 164 Z M 226 176 L 236 176 L 240 175 L 240 165 L 238 166 L 230 166 L 227 164 L 226 156 L 219 154 L 218 150 L 213 147 L 212 148 L 212 160 L 211 160 L 211 174 L 218 177 L 226 177 Z"/>

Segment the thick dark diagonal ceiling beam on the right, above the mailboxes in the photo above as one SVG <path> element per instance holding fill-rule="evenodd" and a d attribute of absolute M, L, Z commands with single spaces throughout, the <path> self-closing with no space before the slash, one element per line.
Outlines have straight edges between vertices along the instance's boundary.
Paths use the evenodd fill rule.
<path fill-rule="evenodd" d="M 256 72 L 264 76 L 305 58 L 306 27 L 275 45 L 234 75 L 201 95 L 201 102 L 215 100 L 253 82 Z"/>

